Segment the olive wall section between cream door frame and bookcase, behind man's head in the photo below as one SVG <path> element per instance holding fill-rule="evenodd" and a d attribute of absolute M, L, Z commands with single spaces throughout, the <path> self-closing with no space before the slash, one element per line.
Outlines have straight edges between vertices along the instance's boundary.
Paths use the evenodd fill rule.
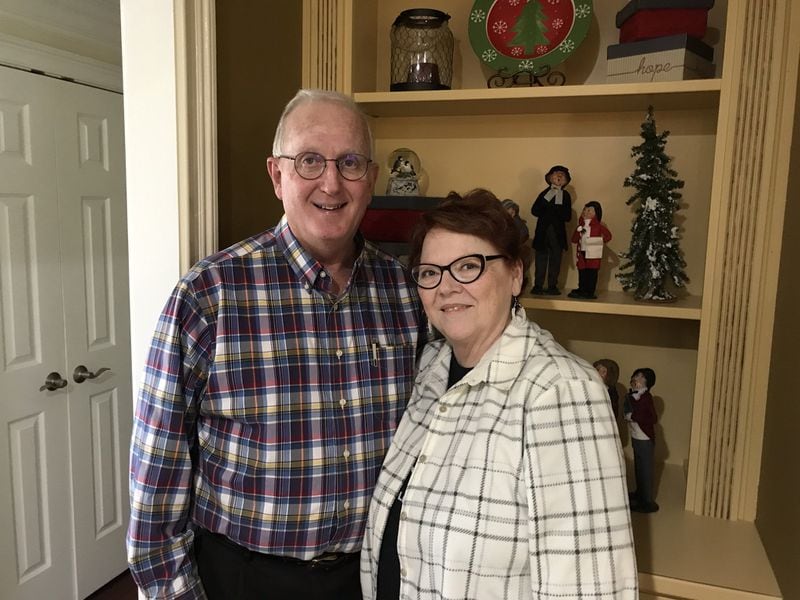
<path fill-rule="evenodd" d="M 266 160 L 283 106 L 301 84 L 302 3 L 218 0 L 219 246 L 283 214 Z"/>

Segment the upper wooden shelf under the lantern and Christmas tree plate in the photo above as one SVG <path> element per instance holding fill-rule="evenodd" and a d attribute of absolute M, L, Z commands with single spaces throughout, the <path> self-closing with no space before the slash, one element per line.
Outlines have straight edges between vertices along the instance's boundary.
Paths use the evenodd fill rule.
<path fill-rule="evenodd" d="M 604 113 L 716 108 L 720 79 L 653 83 L 608 83 L 553 87 L 357 92 L 361 108 L 373 117 L 422 117 L 538 113 Z"/>

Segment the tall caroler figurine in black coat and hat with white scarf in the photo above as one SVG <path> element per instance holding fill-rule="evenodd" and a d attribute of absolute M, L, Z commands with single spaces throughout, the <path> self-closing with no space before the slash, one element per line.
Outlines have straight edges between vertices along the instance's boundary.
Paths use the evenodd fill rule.
<path fill-rule="evenodd" d="M 537 217 L 533 234 L 536 251 L 533 274 L 534 294 L 558 296 L 558 273 L 561 270 L 561 253 L 567 249 L 566 224 L 572 217 L 572 197 L 564 189 L 572 178 L 569 169 L 562 165 L 551 167 L 544 176 L 547 188 L 536 197 L 531 214 Z M 547 288 L 544 287 L 545 276 Z"/>

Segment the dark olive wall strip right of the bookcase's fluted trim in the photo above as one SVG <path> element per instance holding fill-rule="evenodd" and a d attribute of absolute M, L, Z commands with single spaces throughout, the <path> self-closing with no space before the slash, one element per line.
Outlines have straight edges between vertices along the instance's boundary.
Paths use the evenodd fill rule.
<path fill-rule="evenodd" d="M 800 98 L 800 89 L 798 89 Z M 800 111 L 795 110 L 790 173 L 800 173 Z M 800 339 L 800 179 L 789 181 L 783 248 L 772 338 L 769 399 L 758 490 L 756 527 L 783 597 L 800 598 L 800 398 L 797 344 Z M 776 257 L 777 259 L 777 257 Z"/>

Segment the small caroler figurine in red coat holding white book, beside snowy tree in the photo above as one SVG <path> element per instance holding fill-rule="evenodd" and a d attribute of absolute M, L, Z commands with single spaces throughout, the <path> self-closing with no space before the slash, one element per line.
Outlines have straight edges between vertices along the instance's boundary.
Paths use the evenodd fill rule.
<path fill-rule="evenodd" d="M 572 243 L 577 244 L 575 256 L 578 263 L 578 289 L 567 294 L 570 298 L 594 300 L 597 296 L 597 273 L 603 258 L 603 245 L 611 240 L 611 232 L 602 223 L 603 207 L 599 202 L 587 202 L 572 233 Z"/>

